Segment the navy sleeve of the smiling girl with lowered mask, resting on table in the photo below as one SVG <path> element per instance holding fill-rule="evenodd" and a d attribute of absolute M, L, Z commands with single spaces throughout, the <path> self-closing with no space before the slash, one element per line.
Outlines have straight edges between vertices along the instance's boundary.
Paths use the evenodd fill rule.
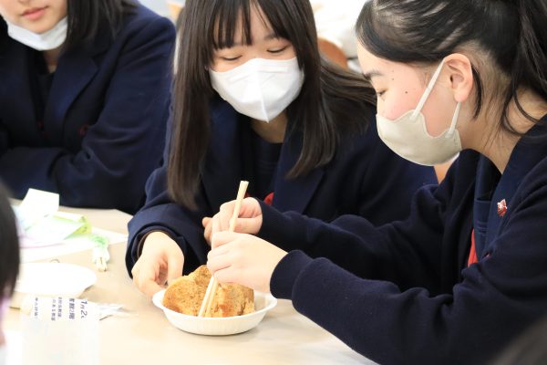
<path fill-rule="evenodd" d="M 134 25 L 123 46 L 81 151 L 15 146 L 2 154 L 0 176 L 15 196 L 32 187 L 60 193 L 65 205 L 139 208 L 146 179 L 163 151 L 175 37 L 166 18 L 142 23 Z"/>

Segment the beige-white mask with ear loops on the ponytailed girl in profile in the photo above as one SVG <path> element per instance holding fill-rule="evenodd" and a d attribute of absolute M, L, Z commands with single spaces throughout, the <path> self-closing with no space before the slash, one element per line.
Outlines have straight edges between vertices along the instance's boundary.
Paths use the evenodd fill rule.
<path fill-rule="evenodd" d="M 433 166 L 449 162 L 461 151 L 459 132 L 456 130 L 461 103 L 456 106 L 449 129 L 437 137 L 428 133 L 426 118 L 421 113 L 437 78 L 439 78 L 443 64 L 444 60 L 429 81 L 428 88 L 419 100 L 416 110 L 408 110 L 397 120 L 388 120 L 377 115 L 377 129 L 380 139 L 402 158 L 420 165 Z"/>

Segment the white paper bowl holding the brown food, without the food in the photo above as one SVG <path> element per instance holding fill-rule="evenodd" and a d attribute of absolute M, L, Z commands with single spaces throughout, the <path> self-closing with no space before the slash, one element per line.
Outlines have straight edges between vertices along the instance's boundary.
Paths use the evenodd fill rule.
<path fill-rule="evenodd" d="M 274 308 L 277 304 L 277 299 L 272 297 L 272 295 L 254 292 L 255 310 L 253 313 L 235 317 L 204 318 L 189 316 L 163 307 L 164 294 L 165 290 L 159 291 L 152 297 L 152 302 L 156 307 L 163 309 L 165 317 L 169 319 L 173 326 L 186 332 L 207 336 L 234 335 L 255 328 L 263 319 L 266 312 Z"/>

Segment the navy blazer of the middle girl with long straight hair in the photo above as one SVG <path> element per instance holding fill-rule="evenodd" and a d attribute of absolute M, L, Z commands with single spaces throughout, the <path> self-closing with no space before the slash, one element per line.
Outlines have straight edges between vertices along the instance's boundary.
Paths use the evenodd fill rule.
<path fill-rule="evenodd" d="M 364 120 L 374 120 L 375 113 L 371 105 Z M 201 219 L 218 213 L 222 203 L 235 199 L 243 180 L 244 128 L 250 128 L 247 118 L 229 103 L 213 101 L 212 140 L 201 172 L 197 211 L 170 200 L 165 164 L 152 173 L 147 183 L 147 203 L 129 222 L 129 271 L 138 258 L 141 237 L 152 230 L 166 232 L 181 246 L 184 272 L 206 262 L 210 247 L 203 239 Z M 297 132 L 285 135 L 274 182 L 273 205 L 280 211 L 295 211 L 325 221 L 341 214 L 359 214 L 374 224 L 383 224 L 408 214 L 410 198 L 419 187 L 437 183 L 432 168 L 407 162 L 387 149 L 377 136 L 374 122 L 364 134 L 341 141 L 332 162 L 306 176 L 287 180 L 285 176 L 300 155 L 302 141 Z"/>

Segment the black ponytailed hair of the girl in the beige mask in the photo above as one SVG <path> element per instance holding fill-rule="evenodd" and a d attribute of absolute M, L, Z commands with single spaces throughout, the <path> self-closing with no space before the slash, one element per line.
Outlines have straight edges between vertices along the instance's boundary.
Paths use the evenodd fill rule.
<path fill-rule="evenodd" d="M 473 64 L 476 92 L 475 118 L 483 107 L 485 79 L 505 79 L 490 86 L 501 95 L 500 126 L 511 126 L 512 101 L 522 109 L 518 90 L 530 89 L 547 100 L 547 0 L 372 0 L 357 20 L 360 43 L 377 57 L 403 63 L 439 63 L 463 47 L 479 49 L 492 75 Z M 475 55 L 479 56 L 480 55 Z M 501 78 L 502 76 L 502 78 Z"/>

